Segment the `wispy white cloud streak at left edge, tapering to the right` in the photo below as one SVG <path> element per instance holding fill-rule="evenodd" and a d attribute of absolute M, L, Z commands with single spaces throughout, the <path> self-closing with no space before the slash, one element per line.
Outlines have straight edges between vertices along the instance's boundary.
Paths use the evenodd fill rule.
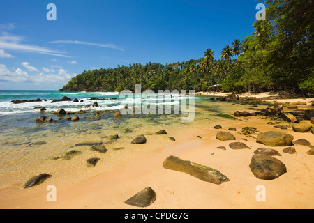
<path fill-rule="evenodd" d="M 1 49 L 33 52 L 33 53 L 47 54 L 47 55 L 53 55 L 53 56 L 71 57 L 71 56 L 64 55 L 64 52 L 47 49 L 45 47 L 21 44 L 20 42 L 24 40 L 24 38 L 21 36 L 12 36 L 4 32 L 2 32 L 1 34 L 2 34 L 2 36 L 0 36 L 0 48 Z"/>

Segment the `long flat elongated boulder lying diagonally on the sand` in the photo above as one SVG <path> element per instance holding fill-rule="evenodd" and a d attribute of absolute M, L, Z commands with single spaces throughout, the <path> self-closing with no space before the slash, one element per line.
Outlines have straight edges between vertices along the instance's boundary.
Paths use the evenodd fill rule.
<path fill-rule="evenodd" d="M 165 169 L 172 169 L 174 171 L 184 172 L 186 174 L 190 174 L 200 180 L 221 184 L 223 182 L 229 181 L 227 176 L 220 173 L 220 171 L 216 169 L 212 169 L 210 167 L 202 166 L 201 164 L 196 164 L 194 162 L 190 162 L 188 160 L 181 160 L 178 157 L 170 156 L 165 159 L 163 162 L 163 167 Z"/>

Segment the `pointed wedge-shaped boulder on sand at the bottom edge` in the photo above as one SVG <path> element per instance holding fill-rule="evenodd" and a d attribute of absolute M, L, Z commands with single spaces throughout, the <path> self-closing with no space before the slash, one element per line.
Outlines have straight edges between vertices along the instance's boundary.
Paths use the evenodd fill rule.
<path fill-rule="evenodd" d="M 131 206 L 145 208 L 150 206 L 151 203 L 154 203 L 154 201 L 156 201 L 156 192 L 151 189 L 151 187 L 146 187 L 144 190 L 138 192 L 133 197 L 130 197 L 124 203 Z"/>

